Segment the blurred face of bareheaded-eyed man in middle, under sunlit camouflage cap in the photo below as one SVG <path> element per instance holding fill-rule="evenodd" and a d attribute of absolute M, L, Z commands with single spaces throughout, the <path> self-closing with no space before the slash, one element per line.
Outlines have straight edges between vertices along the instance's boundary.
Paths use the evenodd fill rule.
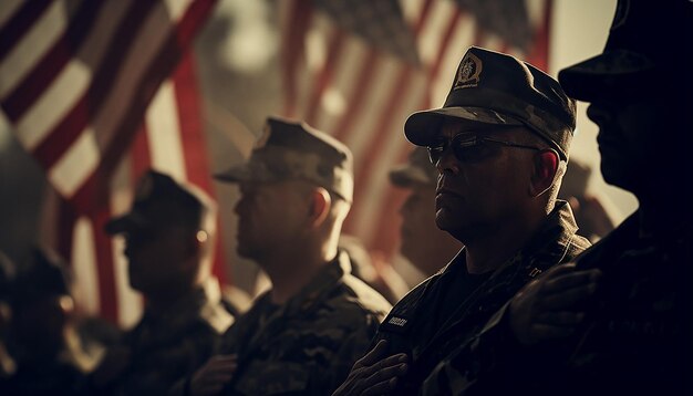
<path fill-rule="evenodd" d="M 240 256 L 260 259 L 270 250 L 283 249 L 300 233 L 308 206 L 298 181 L 240 183 L 240 194 L 235 209 Z"/>

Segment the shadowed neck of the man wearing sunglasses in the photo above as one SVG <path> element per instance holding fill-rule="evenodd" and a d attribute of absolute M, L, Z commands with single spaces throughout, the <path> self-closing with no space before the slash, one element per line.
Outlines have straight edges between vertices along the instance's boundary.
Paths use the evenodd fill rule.
<path fill-rule="evenodd" d="M 516 221 L 506 221 L 501 227 L 465 242 L 467 271 L 486 273 L 495 271 L 513 258 L 537 232 L 547 215 L 536 213 Z"/>

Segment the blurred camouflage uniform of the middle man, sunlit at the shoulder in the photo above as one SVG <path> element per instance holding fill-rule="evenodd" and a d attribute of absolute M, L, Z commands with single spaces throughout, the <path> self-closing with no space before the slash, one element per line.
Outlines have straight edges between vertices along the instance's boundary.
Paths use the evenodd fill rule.
<path fill-rule="evenodd" d="M 391 309 L 350 272 L 342 252 L 286 304 L 261 295 L 225 335 L 221 353 L 238 354 L 225 394 L 329 395 Z"/>

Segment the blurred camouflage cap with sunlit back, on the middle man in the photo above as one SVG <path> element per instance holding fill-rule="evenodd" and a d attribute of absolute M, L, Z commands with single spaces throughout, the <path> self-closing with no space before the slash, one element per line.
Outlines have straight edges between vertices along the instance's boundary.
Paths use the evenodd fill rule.
<path fill-rule="evenodd" d="M 353 198 L 351 150 L 306 123 L 268 117 L 248 163 L 215 175 L 221 181 L 273 183 L 303 179 L 346 201 Z"/>

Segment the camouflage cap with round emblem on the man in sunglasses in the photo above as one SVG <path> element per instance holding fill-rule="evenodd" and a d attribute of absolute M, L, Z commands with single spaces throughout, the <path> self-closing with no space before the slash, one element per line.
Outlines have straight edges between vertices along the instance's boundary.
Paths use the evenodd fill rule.
<path fill-rule="evenodd" d="M 568 158 L 576 104 L 556 80 L 514 56 L 472 46 L 459 62 L 442 108 L 410 115 L 404 134 L 426 146 L 444 118 L 526 126 Z"/>

